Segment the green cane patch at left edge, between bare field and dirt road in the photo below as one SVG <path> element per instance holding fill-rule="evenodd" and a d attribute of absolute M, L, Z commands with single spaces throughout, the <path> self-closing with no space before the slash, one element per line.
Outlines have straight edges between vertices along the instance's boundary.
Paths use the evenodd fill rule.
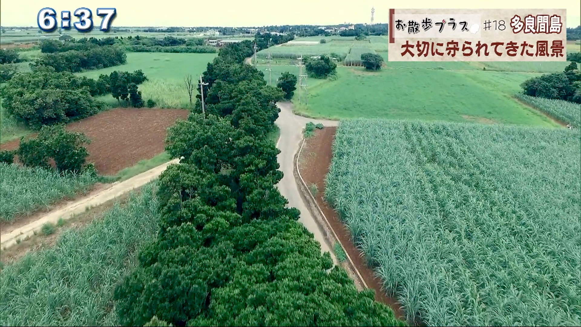
<path fill-rule="evenodd" d="M 49 208 L 58 200 L 87 191 L 95 182 L 89 173 L 61 175 L 40 167 L 0 163 L 0 221 Z"/>

